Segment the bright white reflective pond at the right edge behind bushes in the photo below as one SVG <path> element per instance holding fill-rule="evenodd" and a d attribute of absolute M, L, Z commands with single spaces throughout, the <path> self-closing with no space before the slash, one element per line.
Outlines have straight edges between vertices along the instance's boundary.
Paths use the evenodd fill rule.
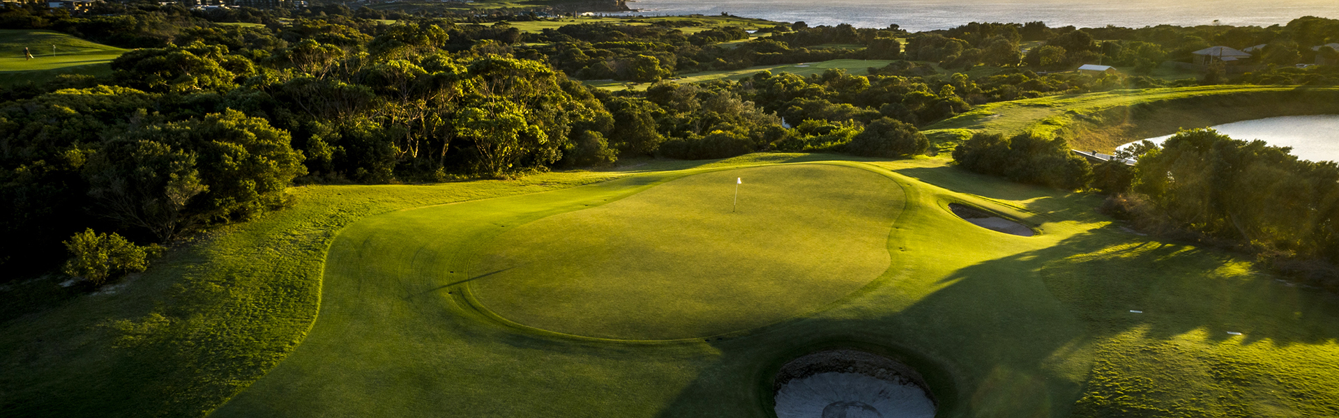
<path fill-rule="evenodd" d="M 1291 146 L 1292 154 L 1302 159 L 1339 161 L 1339 115 L 1277 117 L 1210 127 L 1233 139 L 1263 139 L 1272 146 Z M 1149 141 L 1162 143 L 1166 138 L 1172 135 Z"/>

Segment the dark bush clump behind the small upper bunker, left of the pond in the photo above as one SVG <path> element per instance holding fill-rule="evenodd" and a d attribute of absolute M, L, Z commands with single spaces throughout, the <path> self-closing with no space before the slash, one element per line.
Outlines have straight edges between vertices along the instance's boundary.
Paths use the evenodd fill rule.
<path fill-rule="evenodd" d="M 1043 138 L 1031 133 L 1006 138 L 977 133 L 953 149 L 959 166 L 1012 181 L 1077 190 L 1093 178 L 1082 157 L 1070 153 L 1063 138 Z"/>

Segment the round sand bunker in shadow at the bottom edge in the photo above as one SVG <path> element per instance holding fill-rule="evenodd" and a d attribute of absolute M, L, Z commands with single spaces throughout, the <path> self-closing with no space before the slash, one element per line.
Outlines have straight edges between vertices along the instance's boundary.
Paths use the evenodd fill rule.
<path fill-rule="evenodd" d="M 931 418 L 924 379 L 889 358 L 856 351 L 814 352 L 777 372 L 777 418 Z"/>

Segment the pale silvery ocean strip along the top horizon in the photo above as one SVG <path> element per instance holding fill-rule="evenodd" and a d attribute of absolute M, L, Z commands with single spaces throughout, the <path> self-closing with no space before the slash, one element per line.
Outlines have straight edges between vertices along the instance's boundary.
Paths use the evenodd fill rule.
<path fill-rule="evenodd" d="M 947 29 L 971 21 L 1046 21 L 1050 27 L 1146 27 L 1158 24 L 1272 25 L 1302 16 L 1339 19 L 1339 0 L 636 0 L 628 15 L 720 15 L 809 25 L 849 23 L 862 28 L 898 24 L 908 31 Z"/>

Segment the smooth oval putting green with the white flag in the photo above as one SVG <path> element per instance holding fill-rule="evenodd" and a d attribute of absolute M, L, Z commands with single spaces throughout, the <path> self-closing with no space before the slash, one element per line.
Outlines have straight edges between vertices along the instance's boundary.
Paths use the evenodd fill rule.
<path fill-rule="evenodd" d="M 513 228 L 477 251 L 469 284 L 494 314 L 562 334 L 726 334 L 818 309 L 882 275 L 902 205 L 893 181 L 854 167 L 696 174 Z"/>

